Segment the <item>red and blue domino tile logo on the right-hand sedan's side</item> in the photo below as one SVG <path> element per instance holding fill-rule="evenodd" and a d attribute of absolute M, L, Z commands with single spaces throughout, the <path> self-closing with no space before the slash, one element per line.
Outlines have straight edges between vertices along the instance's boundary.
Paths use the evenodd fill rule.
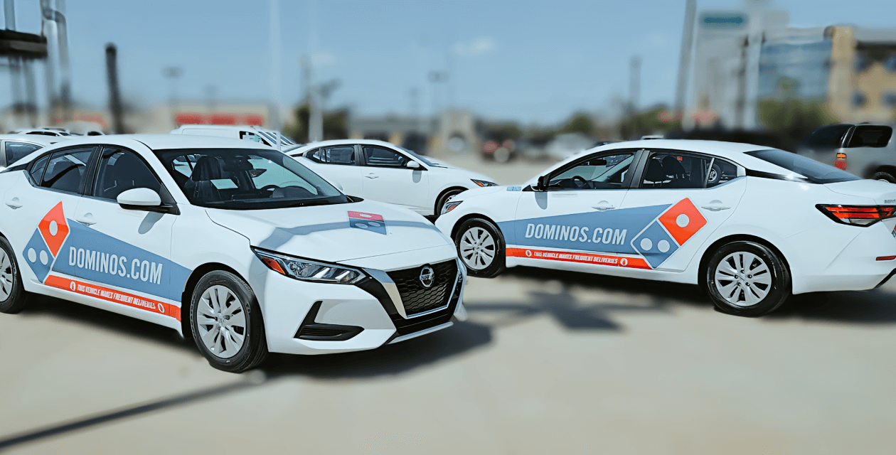
<path fill-rule="evenodd" d="M 704 226 L 706 219 L 694 202 L 683 199 L 635 236 L 632 247 L 656 269 Z"/>

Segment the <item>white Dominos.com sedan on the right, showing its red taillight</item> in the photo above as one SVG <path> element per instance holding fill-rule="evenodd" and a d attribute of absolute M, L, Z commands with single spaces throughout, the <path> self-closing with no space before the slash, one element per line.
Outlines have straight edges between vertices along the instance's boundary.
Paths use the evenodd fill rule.
<path fill-rule="evenodd" d="M 783 150 L 651 140 L 462 193 L 436 226 L 470 274 L 517 265 L 702 285 L 720 310 L 861 290 L 896 272 L 896 186 Z"/>

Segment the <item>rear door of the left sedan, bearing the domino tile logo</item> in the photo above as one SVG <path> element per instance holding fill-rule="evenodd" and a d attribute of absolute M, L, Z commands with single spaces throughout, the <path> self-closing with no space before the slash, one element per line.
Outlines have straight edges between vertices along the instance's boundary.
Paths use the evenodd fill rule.
<path fill-rule="evenodd" d="M 4 195 L 3 216 L 15 219 L 4 234 L 19 256 L 23 280 L 52 285 L 52 271 L 64 261 L 94 149 L 72 147 L 35 159 Z"/>

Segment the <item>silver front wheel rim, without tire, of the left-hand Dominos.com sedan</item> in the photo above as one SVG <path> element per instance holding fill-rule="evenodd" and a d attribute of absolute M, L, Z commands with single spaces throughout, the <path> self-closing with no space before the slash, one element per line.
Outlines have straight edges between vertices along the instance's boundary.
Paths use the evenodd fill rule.
<path fill-rule="evenodd" d="M 211 354 L 219 358 L 236 356 L 246 342 L 246 308 L 230 289 L 212 286 L 199 299 L 196 326 Z"/>

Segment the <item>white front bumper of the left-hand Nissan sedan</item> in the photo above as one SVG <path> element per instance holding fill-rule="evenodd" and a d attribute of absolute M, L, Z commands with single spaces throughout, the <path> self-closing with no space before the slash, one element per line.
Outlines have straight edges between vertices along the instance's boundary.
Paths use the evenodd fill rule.
<path fill-rule="evenodd" d="M 402 293 L 408 297 L 407 289 L 400 289 L 391 278 L 396 270 L 365 268 L 371 278 L 355 286 L 309 283 L 268 273 L 260 299 L 268 350 L 300 355 L 350 352 L 447 328 L 455 315 L 461 320 L 466 316 L 462 300 L 466 270 L 456 257 L 449 261 L 457 264 L 452 276 L 436 278 L 442 279 L 441 284 L 450 282 L 451 287 L 446 288 L 444 299 L 425 311 L 402 300 Z"/>

